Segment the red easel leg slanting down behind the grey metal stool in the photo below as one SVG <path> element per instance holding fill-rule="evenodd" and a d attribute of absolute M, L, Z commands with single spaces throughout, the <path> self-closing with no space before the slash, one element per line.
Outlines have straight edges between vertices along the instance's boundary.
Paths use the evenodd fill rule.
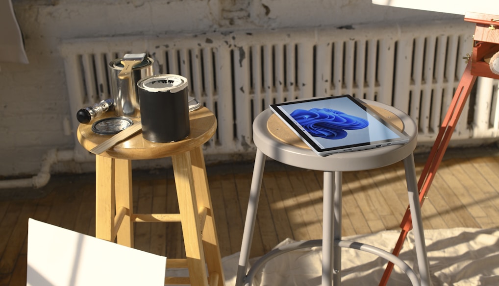
<path fill-rule="evenodd" d="M 471 74 L 471 61 L 466 66 L 466 69 L 461 77 L 459 82 L 459 86 L 456 89 L 456 93 L 452 99 L 451 105 L 449 106 L 449 110 L 447 111 L 446 117 L 440 127 L 439 134 L 433 144 L 433 147 L 430 151 L 430 155 L 428 156 L 428 160 L 426 161 L 425 167 L 423 168 L 423 172 L 418 181 L 418 189 L 419 189 L 419 201 L 422 205 L 424 202 L 424 198 L 426 197 L 430 185 L 435 177 L 438 167 L 442 162 L 442 158 L 444 157 L 445 151 L 447 150 L 447 146 L 451 140 L 451 136 L 456 129 L 456 124 L 461 116 L 463 108 L 468 100 L 468 96 L 470 95 L 471 89 L 475 84 L 477 77 Z M 407 208 L 404 218 L 402 219 L 402 223 L 400 224 L 402 228 L 402 232 L 399 236 L 399 240 L 393 250 L 393 254 L 398 256 L 400 254 L 400 250 L 402 249 L 402 245 L 407 237 L 407 233 L 412 229 L 411 222 L 411 213 L 409 208 Z M 385 273 L 380 282 L 380 286 L 385 286 L 390 278 L 390 274 L 393 270 L 393 263 L 389 262 Z"/>

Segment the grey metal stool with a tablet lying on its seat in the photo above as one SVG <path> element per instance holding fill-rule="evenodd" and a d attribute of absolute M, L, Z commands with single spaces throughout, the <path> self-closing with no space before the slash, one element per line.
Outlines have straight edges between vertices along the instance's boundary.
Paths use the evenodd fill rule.
<path fill-rule="evenodd" d="M 419 193 L 413 151 L 417 143 L 417 126 L 412 118 L 394 107 L 374 101 L 364 101 L 376 109 L 386 110 L 398 117 L 402 128 L 409 135 L 406 144 L 396 144 L 381 148 L 318 156 L 312 150 L 292 145 L 276 138 L 267 126 L 272 111 L 260 113 L 253 122 L 253 141 L 257 147 L 250 189 L 250 201 L 241 245 L 236 286 L 251 285 L 254 275 L 270 259 L 286 252 L 313 246 L 322 246 L 322 286 L 341 284 L 341 247 L 357 249 L 375 254 L 400 267 L 409 277 L 412 285 L 429 286 L 429 266 L 426 254 Z M 275 116 L 274 116 L 275 117 Z M 289 130 L 289 133 L 291 131 Z M 296 137 L 297 138 L 297 137 Z M 249 269 L 250 249 L 256 221 L 256 211 L 260 196 L 261 181 L 266 156 L 279 162 L 306 169 L 324 172 L 323 227 L 322 240 L 295 242 L 265 254 Z M 387 166 L 403 160 L 406 173 L 409 205 L 415 236 L 416 255 L 420 277 L 397 256 L 371 245 L 341 239 L 341 184 L 343 171 L 368 170 Z"/>

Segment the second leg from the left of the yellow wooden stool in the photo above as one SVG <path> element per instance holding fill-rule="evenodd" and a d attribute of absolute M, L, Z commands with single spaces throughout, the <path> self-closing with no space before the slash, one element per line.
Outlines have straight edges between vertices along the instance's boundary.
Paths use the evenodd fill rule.
<path fill-rule="evenodd" d="M 133 247 L 133 222 L 130 220 L 133 213 L 132 161 L 115 159 L 115 172 L 119 174 L 114 178 L 116 211 L 118 212 L 121 207 L 127 209 L 117 231 L 117 243 Z"/>

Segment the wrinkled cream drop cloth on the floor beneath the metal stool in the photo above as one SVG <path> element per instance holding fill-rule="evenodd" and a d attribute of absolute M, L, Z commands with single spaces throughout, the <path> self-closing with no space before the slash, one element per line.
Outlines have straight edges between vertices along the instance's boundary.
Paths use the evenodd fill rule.
<path fill-rule="evenodd" d="M 399 231 L 382 231 L 343 239 L 371 244 L 391 252 Z M 431 280 L 434 286 L 499 285 L 499 230 L 442 229 L 425 230 Z M 416 263 L 412 233 L 409 233 L 400 258 L 409 266 Z M 284 240 L 279 245 L 292 242 Z M 358 250 L 342 249 L 342 286 L 378 285 L 386 261 Z M 286 253 L 267 263 L 253 285 L 318 286 L 321 283 L 321 248 Z M 226 286 L 234 286 L 239 253 L 223 259 Z M 415 270 L 418 273 L 417 269 Z M 397 267 L 389 286 L 411 285 Z"/>

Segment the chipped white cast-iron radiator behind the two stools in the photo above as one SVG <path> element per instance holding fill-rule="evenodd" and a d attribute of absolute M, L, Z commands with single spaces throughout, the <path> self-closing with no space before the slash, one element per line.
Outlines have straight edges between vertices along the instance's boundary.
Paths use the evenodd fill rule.
<path fill-rule="evenodd" d="M 420 143 L 433 142 L 472 50 L 463 22 L 355 26 L 65 41 L 71 114 L 110 97 L 107 64 L 147 52 L 155 73 L 189 80 L 189 94 L 218 119 L 206 154 L 254 150 L 251 123 L 271 103 L 351 94 L 393 105 L 413 117 Z M 479 80 L 453 141 L 498 135 L 497 81 Z M 78 122 L 73 120 L 73 130 Z M 76 143 L 78 146 L 79 144 Z"/>

